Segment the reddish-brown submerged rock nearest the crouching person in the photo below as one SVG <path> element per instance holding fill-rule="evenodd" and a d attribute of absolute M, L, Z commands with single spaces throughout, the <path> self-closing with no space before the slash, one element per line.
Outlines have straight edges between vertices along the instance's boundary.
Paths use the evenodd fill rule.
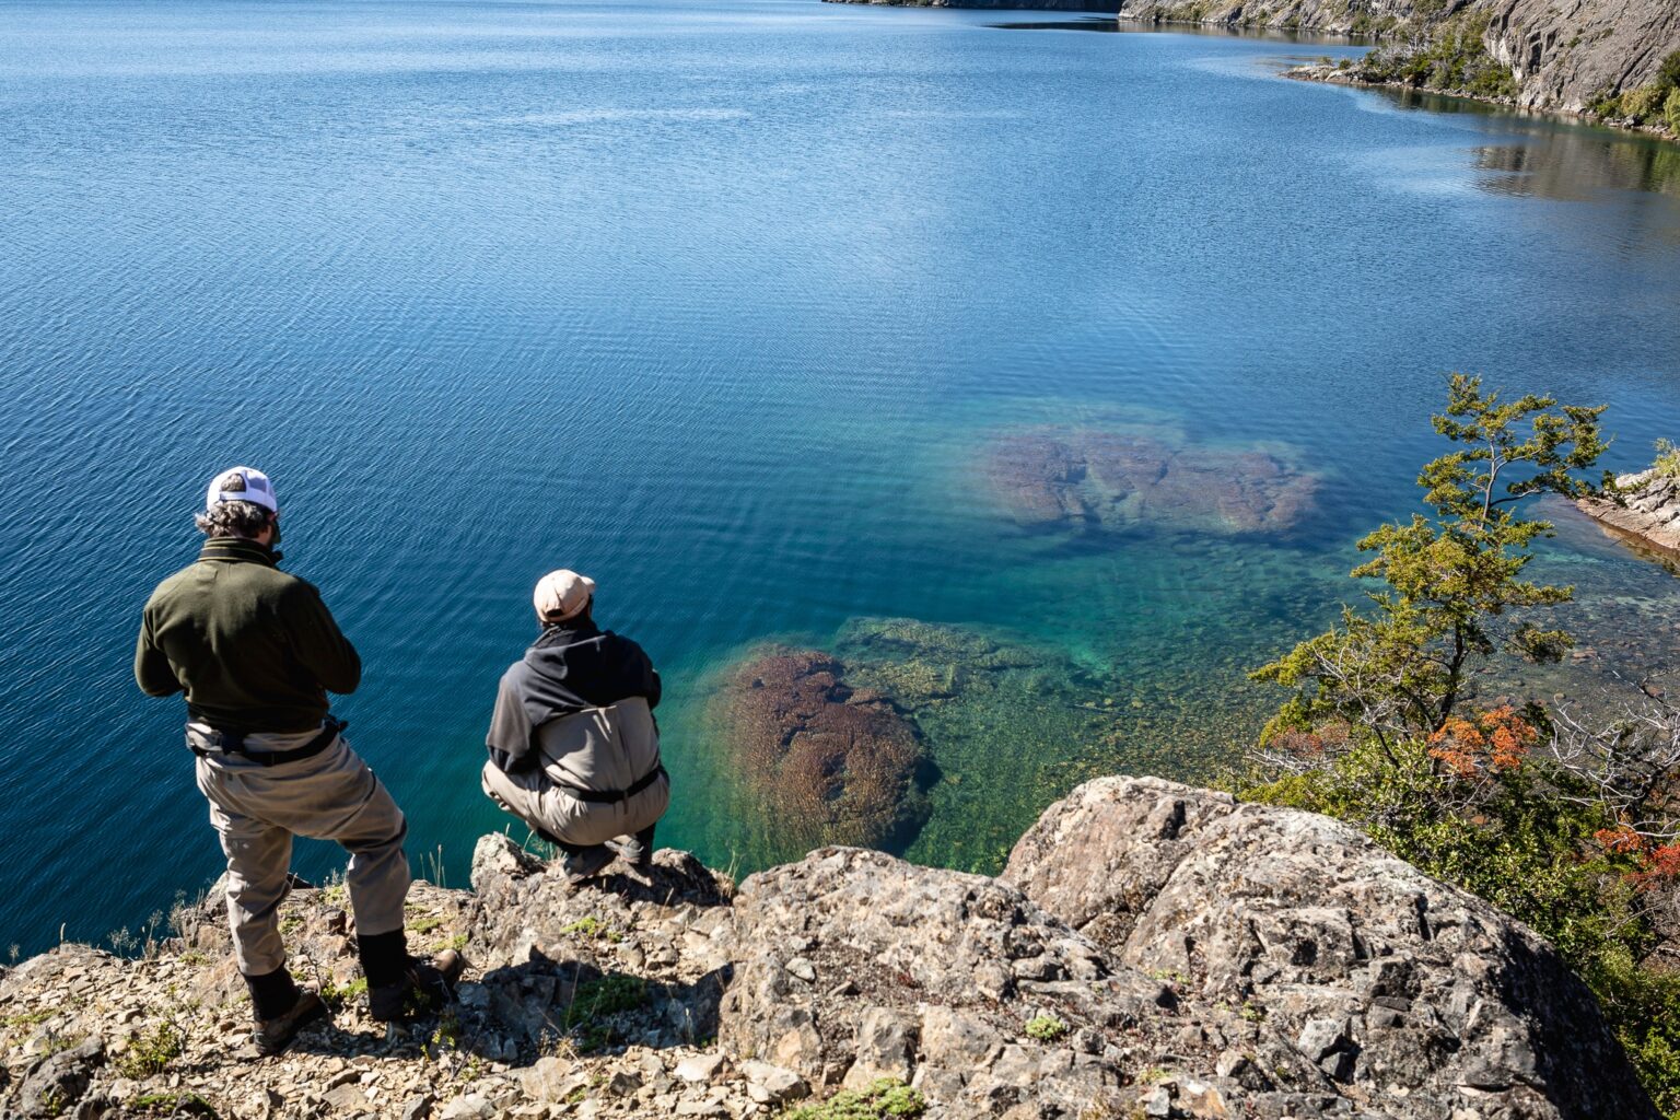
<path fill-rule="evenodd" d="M 843 672 L 813 650 L 751 658 L 714 700 L 724 744 L 780 841 L 900 846 L 927 819 L 921 734 Z"/>

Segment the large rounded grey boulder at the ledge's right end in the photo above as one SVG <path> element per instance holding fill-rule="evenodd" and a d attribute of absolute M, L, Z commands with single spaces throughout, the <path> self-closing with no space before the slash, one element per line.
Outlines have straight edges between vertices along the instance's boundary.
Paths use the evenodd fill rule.
<path fill-rule="evenodd" d="M 1374 1107 L 1651 1115 L 1547 942 L 1329 818 L 1100 779 L 1047 811 L 1003 877 L 1119 966 L 1253 1007 Z"/>

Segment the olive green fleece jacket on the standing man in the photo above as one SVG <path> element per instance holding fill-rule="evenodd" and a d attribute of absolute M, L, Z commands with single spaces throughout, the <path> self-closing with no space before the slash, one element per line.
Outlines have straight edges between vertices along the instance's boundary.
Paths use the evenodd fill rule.
<path fill-rule="evenodd" d="M 354 692 L 361 658 L 314 584 L 276 568 L 255 541 L 213 537 L 146 601 L 134 680 L 146 695 L 186 693 L 217 730 L 321 725 L 328 692 Z"/>

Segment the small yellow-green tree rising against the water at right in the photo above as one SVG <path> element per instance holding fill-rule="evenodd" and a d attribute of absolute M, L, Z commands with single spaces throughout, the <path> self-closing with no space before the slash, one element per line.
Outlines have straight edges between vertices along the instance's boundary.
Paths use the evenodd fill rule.
<path fill-rule="evenodd" d="M 1359 541 L 1361 552 L 1376 556 L 1352 576 L 1384 584 L 1369 593 L 1374 613 L 1344 608 L 1339 626 L 1253 673 L 1295 690 L 1265 739 L 1339 724 L 1388 746 L 1438 730 L 1473 699 L 1475 675 L 1495 652 L 1559 660 L 1569 635 L 1517 616 L 1572 593 L 1522 579 L 1530 544 L 1551 524 L 1524 521 L 1515 505 L 1541 494 L 1599 492 L 1576 474 L 1604 452 L 1601 413 L 1549 396 L 1505 403 L 1483 393 L 1478 378 L 1453 374 L 1446 411 L 1433 423 L 1458 450 L 1418 475 L 1433 516 L 1415 514 Z"/>

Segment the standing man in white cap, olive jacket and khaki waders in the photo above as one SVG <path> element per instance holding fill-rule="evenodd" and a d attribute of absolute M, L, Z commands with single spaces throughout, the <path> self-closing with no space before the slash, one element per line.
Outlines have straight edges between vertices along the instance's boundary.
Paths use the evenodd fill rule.
<path fill-rule="evenodd" d="M 339 735 L 328 692 L 354 692 L 361 658 L 312 584 L 282 573 L 269 477 L 234 467 L 210 482 L 198 559 L 151 593 L 134 650 L 146 695 L 186 693 L 186 746 L 227 853 L 227 917 L 250 989 L 252 1043 L 274 1055 L 326 1014 L 286 971 L 279 907 L 292 836 L 349 851 L 346 885 L 375 1019 L 403 1019 L 452 991 L 465 962 L 408 955 L 408 826 L 373 771 Z"/>

